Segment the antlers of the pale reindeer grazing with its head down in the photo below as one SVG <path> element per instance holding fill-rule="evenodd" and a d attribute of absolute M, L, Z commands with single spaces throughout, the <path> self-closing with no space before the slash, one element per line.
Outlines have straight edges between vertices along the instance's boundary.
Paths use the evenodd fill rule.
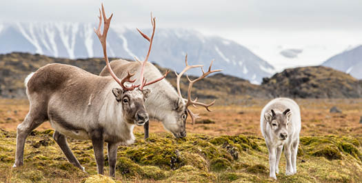
<path fill-rule="evenodd" d="M 188 77 L 188 81 L 190 82 L 189 85 L 188 85 L 188 99 L 187 99 L 187 102 L 185 104 L 185 107 L 187 108 L 187 111 L 191 117 L 191 120 L 192 120 L 192 124 L 194 124 L 194 122 L 196 121 L 197 118 L 199 118 L 199 115 L 198 114 L 194 114 L 192 113 L 192 111 L 188 108 L 188 106 L 192 105 L 194 107 L 197 107 L 197 106 L 203 106 L 206 108 L 206 110 L 208 110 L 209 112 L 211 112 L 211 110 L 209 109 L 210 106 L 214 105 L 215 103 L 215 100 L 213 102 L 211 102 L 210 104 L 203 104 L 201 102 L 197 102 L 197 98 L 192 100 L 191 99 L 191 89 L 192 89 L 192 86 L 194 85 L 195 82 L 197 81 L 200 81 L 201 79 L 207 77 L 208 75 L 210 75 L 211 73 L 216 73 L 216 72 L 219 72 L 221 70 L 211 70 L 211 66 L 212 66 L 212 62 L 211 61 L 211 64 L 209 66 L 209 69 L 208 69 L 208 72 L 205 73 L 205 71 L 203 70 L 203 66 L 202 65 L 194 65 L 194 66 L 189 66 L 188 65 L 188 55 L 185 56 L 185 64 L 186 64 L 186 67 L 181 71 L 181 73 L 179 73 L 179 75 L 177 75 L 177 92 L 179 93 L 179 96 L 183 99 L 182 95 L 181 95 L 181 89 L 180 89 L 180 79 L 181 79 L 181 76 L 183 75 L 183 73 L 185 73 L 187 70 L 189 70 L 190 68 L 198 68 L 200 67 L 201 68 L 201 71 L 203 73 L 203 75 L 201 75 L 200 77 L 198 77 L 197 79 L 194 79 L 194 80 L 191 80 L 188 75 L 186 75 L 186 77 Z M 184 99 L 186 100 L 186 99 Z"/>

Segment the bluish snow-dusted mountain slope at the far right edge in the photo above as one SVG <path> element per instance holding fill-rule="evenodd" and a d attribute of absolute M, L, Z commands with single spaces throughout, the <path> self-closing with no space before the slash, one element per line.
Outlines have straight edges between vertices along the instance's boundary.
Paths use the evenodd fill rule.
<path fill-rule="evenodd" d="M 362 46 L 345 50 L 325 61 L 322 66 L 341 70 L 357 79 L 362 79 Z"/>

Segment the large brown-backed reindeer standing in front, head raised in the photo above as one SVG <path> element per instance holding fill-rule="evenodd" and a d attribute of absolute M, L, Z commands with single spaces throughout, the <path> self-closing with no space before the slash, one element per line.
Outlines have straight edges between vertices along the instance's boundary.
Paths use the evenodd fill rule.
<path fill-rule="evenodd" d="M 99 10 L 101 13 L 101 10 Z M 150 89 L 143 88 L 164 77 L 146 83 L 141 78 L 140 85 L 126 86 L 125 82 L 134 82 L 128 73 L 122 80 L 114 75 L 110 68 L 106 37 L 110 18 L 105 17 L 103 35 L 101 35 L 102 14 L 99 16 L 97 33 L 105 63 L 111 77 L 99 77 L 74 66 L 48 64 L 26 79 L 26 93 L 30 102 L 30 111 L 26 119 L 17 126 L 17 151 L 14 167 L 23 165 L 23 150 L 26 137 L 46 120 L 55 129 L 53 138 L 66 155 L 68 161 L 81 168 L 77 158 L 66 141 L 66 136 L 75 139 L 91 139 L 98 173 L 103 174 L 103 143 L 108 143 L 110 176 L 114 176 L 117 159 L 117 147 L 134 142 L 134 125 L 148 122 L 144 100 Z M 141 68 L 144 70 L 144 68 Z M 115 81 L 114 81 L 115 80 Z M 117 88 L 117 85 L 121 88 Z M 114 95 L 114 96 L 112 96 Z"/>

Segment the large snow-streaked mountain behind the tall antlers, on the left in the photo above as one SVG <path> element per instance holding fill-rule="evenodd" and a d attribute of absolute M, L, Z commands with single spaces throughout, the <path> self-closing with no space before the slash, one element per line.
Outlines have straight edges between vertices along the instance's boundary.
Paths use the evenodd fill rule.
<path fill-rule="evenodd" d="M 103 57 L 92 23 L 0 23 L 0 53 L 30 52 L 52 57 Z M 150 34 L 150 29 L 142 29 Z M 143 59 L 148 41 L 137 30 L 112 25 L 108 32 L 109 57 Z M 157 28 L 150 61 L 181 71 L 185 54 L 190 64 L 206 67 L 214 59 L 214 69 L 261 83 L 274 73 L 274 67 L 248 48 L 221 37 L 206 37 L 195 30 Z M 190 70 L 199 75 L 200 70 Z"/>

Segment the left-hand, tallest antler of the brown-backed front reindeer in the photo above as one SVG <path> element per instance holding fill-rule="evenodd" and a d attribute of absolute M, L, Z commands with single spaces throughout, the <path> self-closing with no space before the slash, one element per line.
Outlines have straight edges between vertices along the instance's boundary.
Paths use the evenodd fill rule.
<path fill-rule="evenodd" d="M 102 15 L 103 15 L 103 21 L 104 21 L 103 34 L 101 34 Z M 137 85 L 137 86 L 132 85 L 130 88 L 124 86 L 124 83 L 126 81 L 130 82 L 130 83 L 133 83 L 134 81 L 136 81 L 135 79 L 134 80 L 130 79 L 133 75 L 128 73 L 128 75 L 126 77 L 124 77 L 122 80 L 120 80 L 116 76 L 116 74 L 114 74 L 112 68 L 110 67 L 110 61 L 108 61 L 106 39 L 107 39 L 108 29 L 110 28 L 110 20 L 112 19 L 112 17 L 113 17 L 113 13 L 112 13 L 112 15 L 110 15 L 110 17 L 108 19 L 105 17 L 105 11 L 104 11 L 104 7 L 103 7 L 103 3 L 102 3 L 102 12 L 99 9 L 99 26 L 98 26 L 97 30 L 96 30 L 96 28 L 94 28 L 94 32 L 97 34 L 99 41 L 101 41 L 105 64 L 107 65 L 110 75 L 113 77 L 114 80 L 117 81 L 117 83 L 123 88 L 123 90 L 133 90 L 134 88 L 137 88 L 139 85 Z"/>

